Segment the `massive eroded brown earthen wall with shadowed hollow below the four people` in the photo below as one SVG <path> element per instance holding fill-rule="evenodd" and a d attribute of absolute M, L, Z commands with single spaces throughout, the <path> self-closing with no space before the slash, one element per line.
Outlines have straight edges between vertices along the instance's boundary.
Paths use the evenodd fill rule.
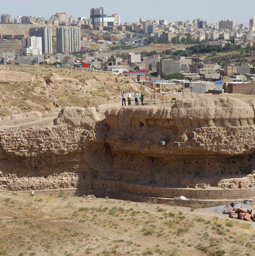
<path fill-rule="evenodd" d="M 202 98 L 172 107 L 97 109 L 66 107 L 52 126 L 2 129 L 0 188 L 79 188 L 126 198 L 120 194 L 132 191 L 121 188 L 130 184 L 142 196 L 171 198 L 182 189 L 188 196 L 192 189 L 199 198 L 200 189 L 230 189 L 236 199 L 252 197 L 254 102 Z"/>

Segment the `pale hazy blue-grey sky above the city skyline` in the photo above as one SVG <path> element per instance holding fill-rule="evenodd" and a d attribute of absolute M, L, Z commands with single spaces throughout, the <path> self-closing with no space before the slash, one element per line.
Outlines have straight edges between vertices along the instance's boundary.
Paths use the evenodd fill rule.
<path fill-rule="evenodd" d="M 33 15 L 49 18 L 56 12 L 68 16 L 89 17 L 91 8 L 104 7 L 106 13 L 120 14 L 121 22 L 138 21 L 139 18 L 167 19 L 168 21 L 202 18 L 209 22 L 233 19 L 235 23 L 248 24 L 255 18 L 255 0 L 1 0 L 1 14 Z"/>

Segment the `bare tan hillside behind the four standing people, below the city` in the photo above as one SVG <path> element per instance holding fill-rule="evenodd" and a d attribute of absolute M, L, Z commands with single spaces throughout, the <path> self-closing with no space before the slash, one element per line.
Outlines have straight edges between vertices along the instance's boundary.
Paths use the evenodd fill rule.
<path fill-rule="evenodd" d="M 2 116 L 27 111 L 44 112 L 55 109 L 56 106 L 88 107 L 106 103 L 120 105 L 121 91 L 128 89 L 143 90 L 147 97 L 152 94 L 151 89 L 135 84 L 129 78 L 105 73 L 38 65 L 8 65 L 4 68 L 26 73 L 23 73 L 23 80 L 17 75 L 17 80 L 14 76 L 12 81 L 1 82 Z M 44 79 L 50 76 L 55 80 L 46 84 Z"/>

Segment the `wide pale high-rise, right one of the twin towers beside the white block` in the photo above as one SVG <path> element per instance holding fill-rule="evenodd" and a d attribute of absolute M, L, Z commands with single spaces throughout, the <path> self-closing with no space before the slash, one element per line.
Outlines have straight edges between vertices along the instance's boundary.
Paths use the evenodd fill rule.
<path fill-rule="evenodd" d="M 81 29 L 79 27 L 57 28 L 57 53 L 81 51 Z"/>

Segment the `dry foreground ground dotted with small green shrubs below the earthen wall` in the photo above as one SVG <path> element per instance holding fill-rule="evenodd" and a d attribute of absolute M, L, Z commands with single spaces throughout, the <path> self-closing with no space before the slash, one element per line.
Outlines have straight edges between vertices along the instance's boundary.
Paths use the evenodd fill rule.
<path fill-rule="evenodd" d="M 254 255 L 254 222 L 205 209 L 0 193 L 1 255 Z"/>

